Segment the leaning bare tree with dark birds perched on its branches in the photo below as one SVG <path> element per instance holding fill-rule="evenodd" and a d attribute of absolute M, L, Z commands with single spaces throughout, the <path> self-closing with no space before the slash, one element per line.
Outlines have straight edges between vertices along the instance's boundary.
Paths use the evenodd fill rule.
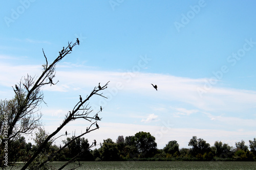
<path fill-rule="evenodd" d="M 23 77 L 18 85 L 15 85 L 13 87 L 15 98 L 9 102 L 1 101 L 1 114 L 5 114 L 5 112 L 8 113 L 8 133 L 6 138 L 9 139 L 15 139 L 15 137 L 20 136 L 22 134 L 29 134 L 32 133 L 33 130 L 38 129 L 40 127 L 40 118 L 42 116 L 41 113 L 38 113 L 39 111 L 39 105 L 44 101 L 44 93 L 42 92 L 42 87 L 45 85 L 55 85 L 58 83 L 58 81 L 54 81 L 55 78 L 55 68 L 56 64 L 61 61 L 63 57 L 70 54 L 72 51 L 72 48 L 76 45 L 79 45 L 79 40 L 72 44 L 72 42 L 68 42 L 68 46 L 65 48 L 63 47 L 63 50 L 59 52 L 58 57 L 51 63 L 48 63 L 47 57 L 45 55 L 44 49 L 42 49 L 42 53 L 44 54 L 46 63 L 42 65 L 43 70 L 42 74 L 39 77 L 31 77 L 27 75 L 26 77 Z M 60 126 L 51 134 L 44 135 L 43 140 L 41 140 L 38 144 L 38 149 L 35 151 L 34 155 L 26 162 L 26 164 L 22 167 L 22 169 L 31 168 L 31 169 L 40 169 L 44 168 L 48 161 L 51 161 L 52 158 L 58 154 L 61 150 L 65 149 L 70 143 L 74 142 L 75 139 L 78 137 L 81 137 L 87 133 L 90 133 L 96 129 L 99 129 L 99 125 L 97 122 L 101 120 L 99 118 L 98 113 L 99 111 L 94 112 L 94 110 L 89 106 L 89 99 L 93 95 L 98 95 L 100 97 L 106 98 L 101 90 L 104 90 L 107 88 L 109 82 L 105 83 L 102 87 L 96 86 L 92 90 L 92 92 L 86 96 L 86 98 L 78 100 L 77 104 L 73 107 L 72 111 L 69 111 L 63 122 L 60 124 Z M 45 103 L 46 104 L 46 103 Z M 2 117 L 2 116 L 1 116 Z M 68 123 L 71 121 L 74 121 L 76 119 L 83 119 L 87 122 L 89 122 L 89 127 L 87 128 L 86 132 L 82 133 L 81 135 L 74 137 L 71 141 L 66 143 L 60 150 L 58 150 L 55 153 L 47 153 L 45 154 L 45 158 L 43 161 L 41 161 L 40 164 L 32 164 L 33 161 L 38 160 L 38 158 L 42 155 L 41 153 L 47 151 L 50 144 L 58 137 L 55 137 L 57 133 L 65 127 Z M 0 130 L 3 129 L 3 125 L 0 124 Z M 2 131 L 1 131 L 2 133 Z M 2 135 L 2 134 L 1 134 Z M 94 147 L 94 145 L 90 145 L 89 148 Z M 88 149 L 89 149 L 88 148 Z M 79 156 L 82 154 L 83 151 L 77 154 Z M 67 164 L 74 162 L 76 157 L 71 159 Z M 67 165 L 65 164 L 65 166 Z M 79 164 L 80 165 L 80 164 Z M 63 167 L 60 167 L 62 169 Z"/>

